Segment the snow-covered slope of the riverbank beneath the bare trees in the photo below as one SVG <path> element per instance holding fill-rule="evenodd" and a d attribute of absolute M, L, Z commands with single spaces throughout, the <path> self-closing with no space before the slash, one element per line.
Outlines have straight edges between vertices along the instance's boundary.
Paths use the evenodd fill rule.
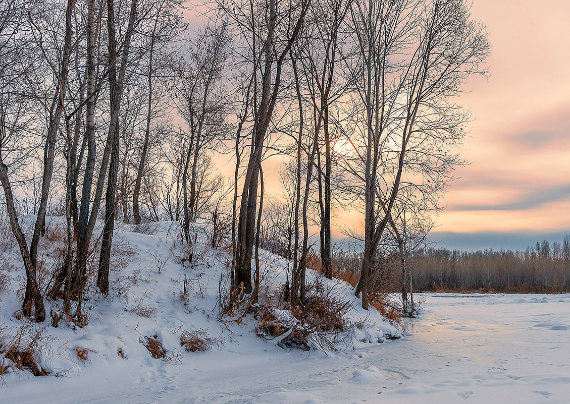
<path fill-rule="evenodd" d="M 47 263 L 50 256 L 56 256 L 57 249 L 52 244 L 63 243 L 57 236 L 63 232 L 63 221 L 51 218 L 47 227 L 51 231 L 48 232 L 50 240 L 42 242 L 42 259 L 46 260 L 44 266 L 50 267 Z M 178 241 L 178 223 L 139 227 L 150 234 L 133 232 L 133 229 L 134 226 L 120 225 L 115 232 L 117 247 L 112 258 L 115 268 L 111 273 L 111 292 L 102 297 L 93 289 L 87 291 L 88 301 L 84 307 L 89 324 L 84 328 L 71 327 L 72 324 L 66 324 L 64 320 L 58 328 L 51 327 L 49 316 L 44 324 L 14 317 L 21 308 L 23 268 L 18 264 L 18 251 L 13 248 L 10 257 L 14 267 L 5 271 L 11 280 L 7 290 L 0 294 L 0 336 L 5 344 L 20 330 L 25 334 L 24 340 L 38 337 L 38 360 L 50 375 L 34 377 L 27 371 L 14 369 L 13 373 L 2 376 L 4 386 L 0 396 L 7 390 L 26 389 L 30 385 L 40 385 L 39 391 L 42 391 L 51 388 L 52 383 L 60 386 L 76 380 L 87 380 L 94 386 L 118 380 L 133 385 L 165 383 L 172 386 L 182 377 L 192 378 L 206 369 L 221 366 L 238 369 L 267 358 L 278 361 L 295 358 L 297 361 L 325 356 L 325 353 L 301 352 L 299 349 L 288 352 L 291 349 L 276 346 L 279 338 L 265 341 L 257 337 L 254 332 L 257 321 L 251 315 L 240 324 L 231 317 L 223 323 L 218 321 L 219 281 L 222 274 L 227 275 L 229 263 L 225 251 L 211 250 L 199 241 L 193 251 L 193 264 L 189 266 L 183 262 L 188 249 Z M 277 293 L 286 280 L 289 263 L 266 252 L 262 252 L 260 259 L 263 284 L 268 293 Z M 308 271 L 308 277 L 314 280 L 318 275 Z M 366 325 L 347 334 L 338 349 L 352 350 L 353 346 L 372 341 L 377 345 L 377 342 L 384 342 L 386 336 L 401 336 L 401 330 L 386 323 L 373 309 L 370 312 L 359 309 L 361 303 L 352 295 L 350 285 L 327 279 L 319 281 L 328 283 L 335 291 L 335 299 L 348 302 L 351 310 L 347 316 L 352 321 L 364 321 Z M 60 312 L 60 304 L 60 301 L 46 301 L 46 312 L 50 313 L 50 308 Z M 198 331 L 211 338 L 211 350 L 186 352 L 180 343 L 185 331 Z M 147 338 L 162 342 L 165 358 L 150 356 L 145 348 Z M 84 353 L 87 360 L 80 360 L 77 350 Z M 7 372 L 11 372 L 13 366 L 6 359 L 3 361 Z"/>

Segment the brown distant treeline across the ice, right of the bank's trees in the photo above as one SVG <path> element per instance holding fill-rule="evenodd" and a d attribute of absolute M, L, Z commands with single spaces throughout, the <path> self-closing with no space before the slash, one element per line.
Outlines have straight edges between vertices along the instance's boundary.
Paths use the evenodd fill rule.
<path fill-rule="evenodd" d="M 411 254 L 409 266 L 417 291 L 570 292 L 570 236 L 525 251 L 429 248 Z"/>

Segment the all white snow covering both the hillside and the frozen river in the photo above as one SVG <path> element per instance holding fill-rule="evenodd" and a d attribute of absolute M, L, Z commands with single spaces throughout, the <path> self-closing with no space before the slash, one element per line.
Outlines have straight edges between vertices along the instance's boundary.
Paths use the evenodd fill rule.
<path fill-rule="evenodd" d="M 53 328 L 48 319 L 31 325 L 45 327 L 42 365 L 51 374 L 5 374 L 0 403 L 570 403 L 570 295 L 416 295 L 425 300 L 421 318 L 405 324 L 406 337 L 390 340 L 386 334 L 401 330 L 359 309 L 348 284 L 332 282 L 337 298 L 351 301 L 349 316 L 368 326 L 339 352 L 286 350 L 257 337 L 253 317 L 241 324 L 217 320 L 227 257 L 200 244 L 204 265 L 177 264 L 175 227 L 160 223 L 154 235 L 117 229 L 116 239 L 137 253 L 112 273 L 109 296 L 88 294 L 91 318 L 82 329 Z M 276 292 L 287 262 L 268 253 L 262 261 L 264 282 Z M 177 297 L 184 276 L 193 286 L 188 305 Z M 22 324 L 13 316 L 21 305 L 13 283 L 0 294 L 5 330 Z M 157 311 L 142 317 L 130 311 L 136 305 Z M 205 330 L 220 342 L 185 352 L 184 330 Z M 140 343 L 154 335 L 167 360 L 152 358 Z M 85 364 L 75 347 L 91 350 Z M 126 359 L 117 356 L 119 348 Z"/>

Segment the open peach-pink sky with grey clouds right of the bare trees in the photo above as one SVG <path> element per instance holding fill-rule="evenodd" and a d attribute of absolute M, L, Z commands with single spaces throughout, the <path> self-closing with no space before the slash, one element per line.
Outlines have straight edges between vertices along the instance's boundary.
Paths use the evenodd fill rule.
<path fill-rule="evenodd" d="M 459 103 L 472 113 L 462 157 L 431 239 L 450 249 L 524 249 L 570 234 L 570 2 L 473 0 L 487 26 L 489 77 L 471 77 Z M 282 160 L 268 160 L 278 193 Z M 228 162 L 222 172 L 233 172 Z M 359 228 L 349 206 L 333 218 Z"/>

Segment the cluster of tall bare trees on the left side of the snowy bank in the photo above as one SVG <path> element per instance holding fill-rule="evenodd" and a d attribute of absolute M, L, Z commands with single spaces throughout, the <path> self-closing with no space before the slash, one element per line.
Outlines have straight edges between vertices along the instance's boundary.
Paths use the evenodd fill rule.
<path fill-rule="evenodd" d="M 149 148 L 153 117 L 153 81 L 160 59 L 167 52 L 156 46 L 172 43 L 182 31 L 176 3 L 146 2 L 36 2 L 2 3 L 2 122 L 0 177 L 11 228 L 26 268 L 23 314 L 43 321 L 42 291 L 36 280 L 38 243 L 46 226 L 48 204 L 56 195 L 59 211 L 67 221 L 67 253 L 55 275 L 48 297 L 63 296 L 64 312 L 82 321 L 81 302 L 93 255 L 93 233 L 104 195 L 103 230 L 96 285 L 109 288 L 109 256 L 115 227 L 117 185 L 126 173 L 127 158 L 136 147 L 121 148 L 136 136 L 125 134 L 129 121 L 144 116 L 131 108 L 133 92 L 148 95 L 143 152 L 138 158 L 135 191 L 138 195 Z M 147 79 L 144 85 L 141 77 Z M 137 88 L 137 86 L 140 86 Z M 139 116 L 136 116 L 137 113 Z M 144 127 L 132 125 L 137 132 Z M 153 128 L 154 129 L 154 128 Z M 123 143 L 123 144 L 121 144 Z M 36 159 L 39 162 L 36 162 Z M 119 167 L 123 173 L 119 181 Z M 131 161 L 129 161 L 131 162 Z M 30 176 L 34 170 L 34 176 Z M 30 243 L 22 230 L 17 207 L 19 185 L 41 176 Z M 32 179 L 33 178 L 33 179 Z M 51 202 L 53 203 L 53 202 Z M 137 198 L 133 198 L 135 222 L 140 222 Z M 126 218 L 125 218 L 126 219 Z M 63 288 L 63 291 L 62 291 Z M 72 301 L 76 302 L 72 313 Z"/>

